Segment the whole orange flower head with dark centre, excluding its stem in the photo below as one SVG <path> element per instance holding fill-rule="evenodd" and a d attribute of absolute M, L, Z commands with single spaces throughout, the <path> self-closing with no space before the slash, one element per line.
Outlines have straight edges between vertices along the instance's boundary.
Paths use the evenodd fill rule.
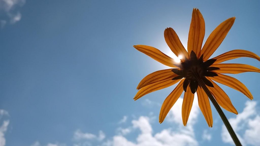
<path fill-rule="evenodd" d="M 184 126 L 186 126 L 194 99 L 194 93 L 197 92 L 200 110 L 209 127 L 212 127 L 213 120 L 209 98 L 201 87 L 202 85 L 207 85 L 207 88 L 222 108 L 238 114 L 228 95 L 212 80 L 236 89 L 252 100 L 252 94 L 243 83 L 233 77 L 223 75 L 222 73 L 239 74 L 248 71 L 260 72 L 260 69 L 246 64 L 226 64 L 221 62 L 238 57 L 251 57 L 260 61 L 260 57 L 250 51 L 232 50 L 209 59 L 222 43 L 234 22 L 235 17 L 232 17 L 220 23 L 217 28 L 211 32 L 202 47 L 205 35 L 205 22 L 200 11 L 198 9 L 193 9 L 188 37 L 188 52 L 181 44 L 176 32 L 172 28 L 165 29 L 165 41 L 172 52 L 176 56 L 184 56 L 180 63 L 175 62 L 173 58 L 165 55 L 154 47 L 134 45 L 134 48 L 138 51 L 173 68 L 155 71 L 144 77 L 136 88 L 139 91 L 136 93 L 134 100 L 179 82 L 177 87 L 166 97 L 162 104 L 159 122 L 162 123 L 164 121 L 174 103 L 182 92 L 185 91 L 182 104 L 182 119 Z"/>

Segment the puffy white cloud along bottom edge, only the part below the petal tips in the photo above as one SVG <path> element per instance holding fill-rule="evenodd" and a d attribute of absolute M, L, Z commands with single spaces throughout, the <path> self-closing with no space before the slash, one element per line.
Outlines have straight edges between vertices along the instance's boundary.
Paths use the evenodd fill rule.
<path fill-rule="evenodd" d="M 136 138 L 136 142 L 127 140 L 122 135 L 116 135 L 113 140 L 103 143 L 104 146 L 171 146 L 171 145 L 191 145 L 197 146 L 196 139 L 182 131 L 173 131 L 172 129 L 164 129 L 161 132 L 152 134 L 152 126 L 149 118 L 140 116 L 138 120 L 132 121 L 133 128 L 139 129 L 141 134 Z"/>

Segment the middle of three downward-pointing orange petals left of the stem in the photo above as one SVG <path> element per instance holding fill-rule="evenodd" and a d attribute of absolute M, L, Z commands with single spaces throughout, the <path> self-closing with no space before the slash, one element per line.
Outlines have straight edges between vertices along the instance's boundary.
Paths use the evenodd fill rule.
<path fill-rule="evenodd" d="M 182 122 L 184 126 L 186 126 L 187 124 L 191 112 L 193 99 L 194 99 L 194 94 L 191 92 L 190 88 L 187 88 L 187 91 L 184 93 L 182 109 L 181 109 Z"/>

